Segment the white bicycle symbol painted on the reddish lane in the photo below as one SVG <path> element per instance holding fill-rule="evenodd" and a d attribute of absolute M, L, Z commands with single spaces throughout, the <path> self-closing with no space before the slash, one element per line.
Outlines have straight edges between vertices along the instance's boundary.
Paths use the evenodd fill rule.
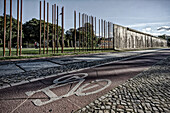
<path fill-rule="evenodd" d="M 46 88 L 43 88 L 43 89 L 40 89 L 37 91 L 25 92 L 25 94 L 27 96 L 32 96 L 39 92 L 43 92 L 44 94 L 46 94 L 49 97 L 48 101 L 42 102 L 40 99 L 32 100 L 32 102 L 36 106 L 42 106 L 42 105 L 48 104 L 50 102 L 59 100 L 61 98 L 69 97 L 74 94 L 77 96 L 86 96 L 86 95 L 95 94 L 95 93 L 98 93 L 98 92 L 106 89 L 107 87 L 109 87 L 111 85 L 111 81 L 108 79 L 98 79 L 98 80 L 94 80 L 89 83 L 83 84 L 83 82 L 85 81 L 85 77 L 87 77 L 87 76 L 88 76 L 87 73 L 78 73 L 78 74 L 62 76 L 60 78 L 55 79 L 53 81 L 54 84 L 51 86 L 48 86 Z M 103 86 L 102 88 L 97 88 L 97 87 L 99 87 L 100 82 L 106 82 L 106 85 Z M 62 86 L 72 84 L 72 83 L 77 83 L 77 84 L 67 94 L 57 96 L 54 92 L 52 92 L 52 89 L 62 87 Z M 97 89 L 95 89 L 95 88 L 97 88 Z M 90 89 L 95 89 L 95 90 L 89 91 Z"/>

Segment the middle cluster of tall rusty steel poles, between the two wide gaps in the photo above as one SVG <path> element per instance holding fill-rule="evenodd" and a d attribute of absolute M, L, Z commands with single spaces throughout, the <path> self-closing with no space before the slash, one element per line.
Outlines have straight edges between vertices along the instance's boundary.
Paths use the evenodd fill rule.
<path fill-rule="evenodd" d="M 41 1 L 40 1 L 40 47 L 39 47 L 39 54 L 41 54 Z M 45 54 L 45 49 L 46 49 L 46 53 L 49 53 L 49 3 L 47 3 L 47 34 L 46 34 L 46 21 L 45 21 L 45 6 L 46 6 L 46 2 L 44 0 L 44 40 L 43 40 L 43 54 Z M 56 12 L 57 10 L 57 12 Z M 62 49 L 61 52 L 64 52 L 64 7 L 62 7 L 62 19 L 61 19 L 61 25 L 62 25 Z M 58 44 L 59 44 L 59 29 L 58 29 L 58 16 L 59 16 L 59 9 L 58 6 L 56 8 L 56 4 L 52 5 L 52 53 L 56 53 L 56 47 L 57 47 L 57 53 L 58 53 Z M 57 23 L 56 23 L 57 22 Z M 57 29 L 56 29 L 57 28 Z M 56 40 L 56 36 L 57 36 L 57 40 Z M 46 38 L 47 37 L 47 38 Z M 46 41 L 47 39 L 47 41 Z M 46 48 L 46 43 L 47 42 L 47 48 Z"/>

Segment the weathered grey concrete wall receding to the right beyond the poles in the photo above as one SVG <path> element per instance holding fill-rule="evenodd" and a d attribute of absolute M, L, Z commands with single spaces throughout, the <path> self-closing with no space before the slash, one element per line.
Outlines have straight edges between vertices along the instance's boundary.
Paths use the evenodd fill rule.
<path fill-rule="evenodd" d="M 115 49 L 167 47 L 167 40 L 114 24 Z"/>

